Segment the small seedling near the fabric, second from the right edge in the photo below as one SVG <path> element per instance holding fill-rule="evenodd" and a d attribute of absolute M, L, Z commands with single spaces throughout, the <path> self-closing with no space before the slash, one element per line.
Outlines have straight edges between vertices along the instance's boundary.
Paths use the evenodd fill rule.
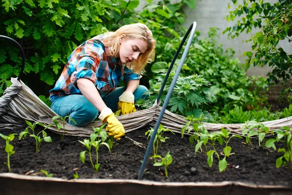
<path fill-rule="evenodd" d="M 253 145 L 251 141 L 251 137 L 257 136 L 259 147 L 260 146 L 264 147 L 265 136 L 268 133 L 269 133 L 269 127 L 266 127 L 262 123 L 258 123 L 254 120 L 246 121 L 245 125 L 241 128 L 242 136 L 245 136 L 246 143 L 250 144 L 251 146 Z M 263 143 L 261 144 L 261 142 Z"/>

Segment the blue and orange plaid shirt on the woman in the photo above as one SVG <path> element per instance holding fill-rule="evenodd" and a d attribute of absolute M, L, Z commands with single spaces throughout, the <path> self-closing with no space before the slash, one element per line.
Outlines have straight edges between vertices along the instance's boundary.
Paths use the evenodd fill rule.
<path fill-rule="evenodd" d="M 54 89 L 50 90 L 51 101 L 65 95 L 81 94 L 76 83 L 78 78 L 90 79 L 101 98 L 110 94 L 120 80 L 128 82 L 141 78 L 119 63 L 119 58 L 110 55 L 110 47 L 101 42 L 106 36 L 102 34 L 89 39 L 73 51 Z"/>

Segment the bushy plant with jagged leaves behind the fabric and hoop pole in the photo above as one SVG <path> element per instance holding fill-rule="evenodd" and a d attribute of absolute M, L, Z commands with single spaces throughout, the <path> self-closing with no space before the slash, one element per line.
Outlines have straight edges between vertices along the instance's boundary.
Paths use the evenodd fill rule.
<path fill-rule="evenodd" d="M 161 97 L 162 103 L 164 102 L 164 98 L 166 97 L 173 77 L 174 73 L 171 73 L 166 82 Z M 149 99 L 138 101 L 138 106 L 142 108 L 149 108 L 153 105 L 159 94 L 164 78 L 165 74 L 161 74 L 160 76 L 156 77 L 157 82 L 152 84 L 150 89 L 145 92 L 146 95 L 150 96 Z M 214 92 L 210 90 L 210 85 L 210 82 L 208 82 L 200 75 L 179 77 L 172 92 L 172 96 L 169 99 L 167 109 L 170 112 L 183 116 L 200 116 L 203 114 L 204 117 L 212 120 L 212 116 L 208 112 L 202 111 L 201 109 L 204 104 L 208 104 L 216 99 Z"/>

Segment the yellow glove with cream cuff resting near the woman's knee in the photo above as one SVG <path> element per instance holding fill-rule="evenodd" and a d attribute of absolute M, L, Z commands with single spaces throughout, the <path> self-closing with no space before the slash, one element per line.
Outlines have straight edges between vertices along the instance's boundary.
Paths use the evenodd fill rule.
<path fill-rule="evenodd" d="M 134 95 L 131 92 L 124 92 L 119 97 L 118 110 L 121 109 L 122 115 L 136 112 L 134 105 Z"/>

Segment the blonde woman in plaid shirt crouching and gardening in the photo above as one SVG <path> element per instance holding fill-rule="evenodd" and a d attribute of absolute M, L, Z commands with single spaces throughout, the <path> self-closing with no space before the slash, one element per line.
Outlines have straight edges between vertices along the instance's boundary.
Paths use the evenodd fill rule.
<path fill-rule="evenodd" d="M 52 110 L 59 116 L 70 116 L 76 124 L 69 123 L 76 126 L 99 116 L 102 122 L 108 122 L 109 135 L 119 140 L 125 129 L 113 112 L 135 112 L 134 101 L 144 98 L 147 89 L 139 85 L 140 73 L 154 60 L 155 43 L 142 23 L 85 41 L 70 55 L 55 88 L 50 90 Z M 127 87 L 117 88 L 120 80 Z"/>

